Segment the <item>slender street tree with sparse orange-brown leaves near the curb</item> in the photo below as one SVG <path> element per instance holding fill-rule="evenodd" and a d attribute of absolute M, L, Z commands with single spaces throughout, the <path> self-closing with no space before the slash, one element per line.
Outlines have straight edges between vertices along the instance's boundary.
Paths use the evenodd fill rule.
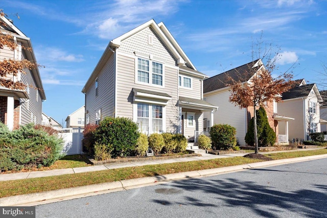
<path fill-rule="evenodd" d="M 242 82 L 241 78 L 235 79 L 227 76 L 230 86 L 229 101 L 235 103 L 240 108 L 253 107 L 254 116 L 254 145 L 255 154 L 259 153 L 258 130 L 256 127 L 256 110 L 265 102 L 281 100 L 283 92 L 288 91 L 293 86 L 293 74 L 287 72 L 279 74 L 276 78 L 272 77 L 275 70 L 275 63 L 280 58 L 278 52 L 273 52 L 272 45 L 264 45 L 262 40 L 252 43 L 252 63 L 248 64 L 245 74 L 250 75 L 247 82 Z M 264 45 L 264 46 L 263 46 Z M 271 58 L 272 54 L 274 57 Z M 262 60 L 267 59 L 264 65 Z M 244 76 L 244 72 L 239 72 Z"/>

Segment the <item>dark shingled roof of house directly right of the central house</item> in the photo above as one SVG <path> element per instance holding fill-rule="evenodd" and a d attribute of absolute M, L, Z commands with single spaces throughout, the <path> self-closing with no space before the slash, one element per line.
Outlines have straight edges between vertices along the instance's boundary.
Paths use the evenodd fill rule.
<path fill-rule="evenodd" d="M 253 76 L 253 71 L 249 71 L 254 63 L 258 60 L 251 61 L 240 67 L 231 69 L 224 73 L 203 80 L 203 93 L 219 90 L 227 86 L 227 77 L 230 76 L 235 81 L 246 82 Z M 258 67 L 257 67 L 258 68 Z"/>

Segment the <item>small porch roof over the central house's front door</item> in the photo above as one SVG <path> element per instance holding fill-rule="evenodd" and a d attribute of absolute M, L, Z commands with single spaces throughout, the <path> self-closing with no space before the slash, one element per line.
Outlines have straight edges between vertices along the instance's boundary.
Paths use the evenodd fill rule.
<path fill-rule="evenodd" d="M 196 109 L 201 111 L 212 111 L 218 109 L 218 106 L 215 106 L 201 99 L 179 97 L 177 103 L 178 106 L 180 107 Z"/>

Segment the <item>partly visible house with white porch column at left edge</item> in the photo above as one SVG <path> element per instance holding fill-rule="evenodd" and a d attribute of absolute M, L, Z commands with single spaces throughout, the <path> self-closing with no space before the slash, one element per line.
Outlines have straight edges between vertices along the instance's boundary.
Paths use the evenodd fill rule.
<path fill-rule="evenodd" d="M 11 34 L 18 44 L 14 51 L 6 46 L 0 49 L 0 60 L 27 59 L 36 62 L 30 38 L 14 26 L 11 20 L 3 16 L 0 16 L 0 19 L 6 24 L 0 26 L 1 34 Z M 31 51 L 22 49 L 22 46 L 31 48 Z M 11 90 L 0 85 L 0 121 L 9 129 L 28 123 L 41 124 L 42 122 L 42 101 L 45 100 L 45 94 L 39 70 L 25 69 L 24 72 L 19 72 L 17 76 L 7 75 L 7 79 L 25 83 L 26 90 Z"/>

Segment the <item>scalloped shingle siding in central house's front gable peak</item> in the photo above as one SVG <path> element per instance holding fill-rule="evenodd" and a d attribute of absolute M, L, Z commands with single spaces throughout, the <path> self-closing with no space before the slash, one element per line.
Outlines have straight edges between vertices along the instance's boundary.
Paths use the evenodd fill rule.
<path fill-rule="evenodd" d="M 153 45 L 148 44 L 148 35 L 152 35 Z M 143 54 L 152 54 L 162 60 L 165 60 L 166 64 L 176 66 L 176 60 L 169 52 L 164 43 L 155 34 L 152 28 L 147 27 L 142 31 L 132 35 L 131 37 L 122 41 L 118 51 L 132 54 L 133 52 L 139 52 Z"/>

